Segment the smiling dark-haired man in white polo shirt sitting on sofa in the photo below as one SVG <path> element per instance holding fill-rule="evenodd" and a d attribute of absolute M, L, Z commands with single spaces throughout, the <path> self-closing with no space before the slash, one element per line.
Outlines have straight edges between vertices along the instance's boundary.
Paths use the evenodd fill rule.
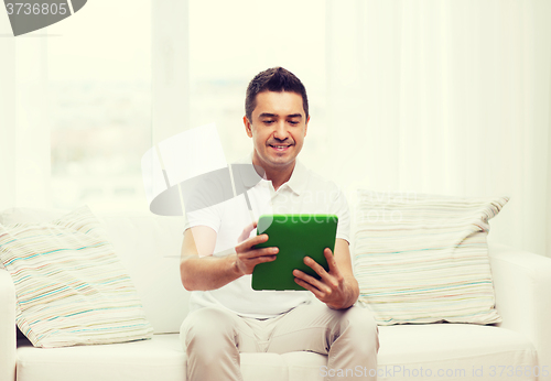
<path fill-rule="evenodd" d="M 353 307 L 359 290 L 348 248 L 346 200 L 333 183 L 296 160 L 309 121 L 306 90 L 299 78 L 281 67 L 258 74 L 247 88 L 244 123 L 253 145 L 247 161 L 259 181 L 247 195 L 187 215 L 181 274 L 194 293 L 181 339 L 190 380 L 242 380 L 239 352 L 296 350 L 328 355 L 327 367 L 320 370 L 327 380 L 375 380 L 378 330 L 369 311 Z M 255 249 L 268 237 L 251 235 L 255 218 L 271 213 L 338 216 L 335 252 L 324 251 L 329 271 L 306 257 L 304 263 L 321 279 L 293 272 L 307 292 L 258 292 L 250 286 L 255 266 L 278 255 L 277 248 Z"/>

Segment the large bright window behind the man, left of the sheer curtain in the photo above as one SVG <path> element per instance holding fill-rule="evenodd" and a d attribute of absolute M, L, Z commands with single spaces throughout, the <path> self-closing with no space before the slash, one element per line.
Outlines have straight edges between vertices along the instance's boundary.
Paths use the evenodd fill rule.
<path fill-rule="evenodd" d="M 12 89 L 2 96 L 18 109 L 6 124 L 17 133 L 2 130 L 17 144 L 0 143 L 1 157 L 15 157 L 7 171 L 14 190 L 1 190 L 6 206 L 148 209 L 145 151 L 215 122 L 226 160 L 241 159 L 251 151 L 241 121 L 246 87 L 273 66 L 296 74 L 309 91 L 301 157 L 316 168 L 323 154 L 324 2 L 95 0 L 31 34 L 10 40 L 17 79 L 2 64 L 2 84 Z"/>

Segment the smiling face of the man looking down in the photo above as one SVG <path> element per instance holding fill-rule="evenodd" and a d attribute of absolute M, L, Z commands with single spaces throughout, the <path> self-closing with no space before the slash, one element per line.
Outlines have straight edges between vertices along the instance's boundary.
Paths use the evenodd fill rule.
<path fill-rule="evenodd" d="M 294 166 L 301 152 L 310 117 L 296 92 L 263 91 L 257 95 L 251 120 L 244 117 L 245 129 L 252 138 L 252 163 L 266 171 Z"/>

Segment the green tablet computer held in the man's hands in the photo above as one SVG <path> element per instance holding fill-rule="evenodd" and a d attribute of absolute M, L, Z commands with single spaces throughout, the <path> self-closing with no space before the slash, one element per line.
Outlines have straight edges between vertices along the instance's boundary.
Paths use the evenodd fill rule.
<path fill-rule="evenodd" d="M 252 290 L 287 291 L 305 289 L 294 282 L 293 270 L 298 269 L 320 279 L 304 264 L 310 257 L 328 271 L 323 251 L 335 249 L 338 218 L 335 215 L 263 215 L 258 219 L 257 236 L 267 233 L 268 241 L 256 248 L 279 248 L 272 262 L 259 263 L 252 271 Z"/>

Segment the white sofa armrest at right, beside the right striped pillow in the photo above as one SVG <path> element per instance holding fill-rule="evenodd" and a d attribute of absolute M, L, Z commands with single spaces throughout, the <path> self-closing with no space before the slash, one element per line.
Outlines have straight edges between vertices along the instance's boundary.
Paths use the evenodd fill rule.
<path fill-rule="evenodd" d="M 539 380 L 551 380 L 551 258 L 503 244 L 490 244 L 489 258 L 499 326 L 532 341 L 547 370 Z"/>

